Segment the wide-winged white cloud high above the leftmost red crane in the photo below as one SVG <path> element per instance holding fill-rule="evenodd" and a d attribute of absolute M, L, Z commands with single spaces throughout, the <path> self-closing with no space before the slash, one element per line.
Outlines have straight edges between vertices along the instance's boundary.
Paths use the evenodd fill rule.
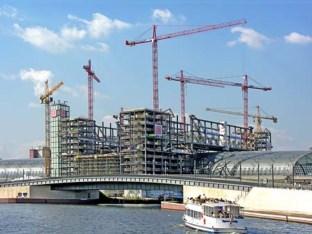
<path fill-rule="evenodd" d="M 130 28 L 132 26 L 132 24 L 122 22 L 119 19 L 110 19 L 100 13 L 94 13 L 92 21 L 74 15 L 68 15 L 68 18 L 85 24 L 89 36 L 96 39 L 106 38 L 118 29 Z"/>

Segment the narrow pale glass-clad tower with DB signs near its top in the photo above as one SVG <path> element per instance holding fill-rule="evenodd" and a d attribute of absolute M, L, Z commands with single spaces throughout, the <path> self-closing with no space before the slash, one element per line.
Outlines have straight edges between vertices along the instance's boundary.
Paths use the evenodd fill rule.
<path fill-rule="evenodd" d="M 64 103 L 54 102 L 51 103 L 51 176 L 60 176 L 60 145 L 62 137 L 59 133 L 62 131 L 60 120 L 69 118 L 69 106 L 67 102 Z"/>

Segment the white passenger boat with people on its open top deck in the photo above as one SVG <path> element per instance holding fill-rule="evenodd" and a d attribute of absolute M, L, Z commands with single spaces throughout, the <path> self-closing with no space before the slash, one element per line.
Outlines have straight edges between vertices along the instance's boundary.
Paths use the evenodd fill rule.
<path fill-rule="evenodd" d="M 187 202 L 183 221 L 207 233 L 247 233 L 241 206 L 234 203 Z"/>

